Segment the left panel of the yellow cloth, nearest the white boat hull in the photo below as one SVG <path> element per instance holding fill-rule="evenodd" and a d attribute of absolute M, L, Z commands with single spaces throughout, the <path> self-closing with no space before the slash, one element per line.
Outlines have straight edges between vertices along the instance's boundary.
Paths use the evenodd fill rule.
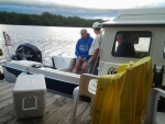
<path fill-rule="evenodd" d="M 120 94 L 125 71 L 98 79 L 92 124 L 119 124 Z"/>

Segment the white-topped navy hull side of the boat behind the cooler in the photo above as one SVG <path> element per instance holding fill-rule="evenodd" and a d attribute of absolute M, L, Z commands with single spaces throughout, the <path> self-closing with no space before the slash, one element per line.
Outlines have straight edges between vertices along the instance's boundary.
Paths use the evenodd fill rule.
<path fill-rule="evenodd" d="M 15 82 L 21 72 L 43 74 L 45 76 L 46 88 L 56 92 L 73 95 L 73 90 L 79 84 L 79 75 L 43 67 L 42 64 L 29 60 L 11 60 L 2 65 L 7 81 Z M 32 67 L 32 66 L 41 67 Z"/>

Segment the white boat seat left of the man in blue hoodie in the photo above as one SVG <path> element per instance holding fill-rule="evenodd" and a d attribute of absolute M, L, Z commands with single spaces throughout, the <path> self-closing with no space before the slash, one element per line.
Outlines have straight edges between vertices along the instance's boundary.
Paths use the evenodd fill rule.
<path fill-rule="evenodd" d="M 53 66 L 58 70 L 70 70 L 75 66 L 76 58 L 70 56 L 53 56 Z"/>

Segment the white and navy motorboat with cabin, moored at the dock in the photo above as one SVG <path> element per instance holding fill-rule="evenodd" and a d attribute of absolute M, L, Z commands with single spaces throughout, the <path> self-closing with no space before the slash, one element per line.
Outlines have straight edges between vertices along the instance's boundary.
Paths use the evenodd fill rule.
<path fill-rule="evenodd" d="M 102 71 L 103 74 L 114 74 L 120 64 L 151 56 L 156 76 L 153 86 L 165 86 L 165 76 L 163 75 L 165 63 L 165 9 L 121 10 L 116 19 L 103 22 L 101 26 L 100 36 L 102 43 L 98 75 L 101 75 Z M 128 43 L 133 45 L 134 56 L 116 56 L 118 34 L 124 34 Z M 19 46 L 16 49 L 20 53 L 22 52 L 21 47 Z M 80 78 L 80 75 L 72 72 L 76 58 L 53 56 L 52 63 L 54 67 L 50 68 L 42 64 L 40 50 L 35 50 L 33 56 L 35 53 L 37 54 L 33 59 L 29 59 L 31 56 L 25 54 L 23 57 L 26 60 L 15 59 L 16 56 L 14 56 L 14 59 L 1 63 L 4 79 L 15 82 L 21 72 L 44 74 L 47 89 L 72 95 L 74 88 L 79 84 Z M 40 59 L 34 60 L 37 57 Z M 105 66 L 107 66 L 107 69 L 105 69 Z"/>

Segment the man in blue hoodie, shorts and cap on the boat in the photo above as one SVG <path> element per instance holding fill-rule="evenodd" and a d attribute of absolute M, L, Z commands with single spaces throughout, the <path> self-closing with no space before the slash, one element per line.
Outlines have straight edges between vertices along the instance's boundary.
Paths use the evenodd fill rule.
<path fill-rule="evenodd" d="M 75 55 L 77 56 L 75 68 L 73 69 L 74 74 L 77 74 L 78 68 L 81 66 L 81 72 L 87 72 L 88 59 L 89 59 L 89 48 L 94 41 L 90 37 L 90 34 L 87 32 L 86 29 L 80 31 L 81 37 L 78 40 L 76 44 Z"/>

